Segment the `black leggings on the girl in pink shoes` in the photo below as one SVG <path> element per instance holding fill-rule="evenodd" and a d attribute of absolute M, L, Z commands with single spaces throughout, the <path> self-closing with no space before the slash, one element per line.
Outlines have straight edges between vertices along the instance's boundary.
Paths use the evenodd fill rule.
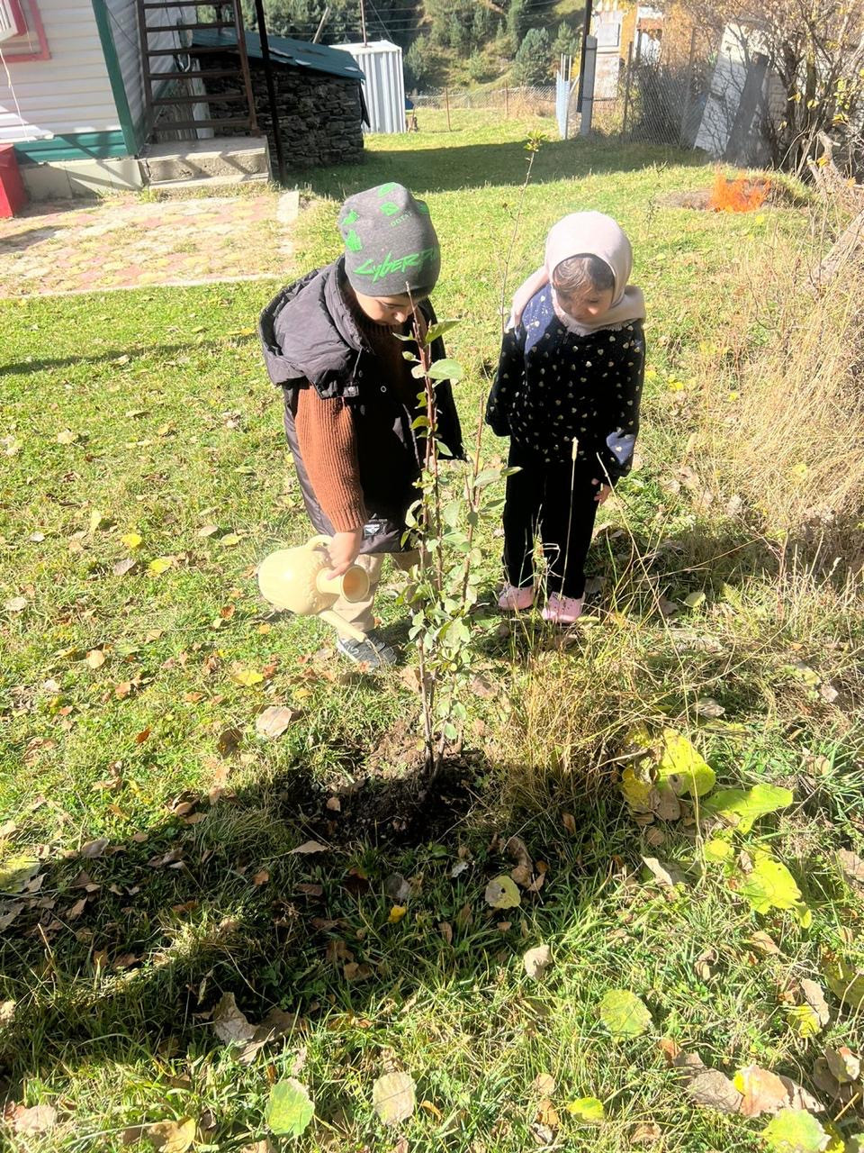
<path fill-rule="evenodd" d="M 507 464 L 518 473 L 507 477 L 503 511 L 507 580 L 517 588 L 533 581 L 535 537 L 543 541 L 548 563 L 547 593 L 579 597 L 585 591 L 585 557 L 597 517 L 593 483 L 582 461 L 544 464 L 533 453 L 510 444 Z"/>

